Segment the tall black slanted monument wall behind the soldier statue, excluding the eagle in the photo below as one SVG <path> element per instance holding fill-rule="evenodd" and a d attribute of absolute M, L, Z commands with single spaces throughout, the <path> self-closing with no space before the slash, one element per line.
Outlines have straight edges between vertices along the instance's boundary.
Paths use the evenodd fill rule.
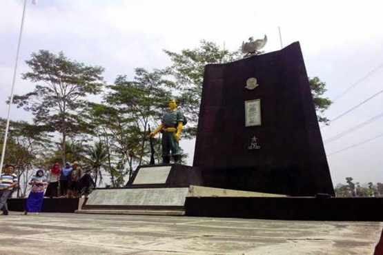
<path fill-rule="evenodd" d="M 334 194 L 299 43 L 206 65 L 193 166 L 210 187 Z"/>

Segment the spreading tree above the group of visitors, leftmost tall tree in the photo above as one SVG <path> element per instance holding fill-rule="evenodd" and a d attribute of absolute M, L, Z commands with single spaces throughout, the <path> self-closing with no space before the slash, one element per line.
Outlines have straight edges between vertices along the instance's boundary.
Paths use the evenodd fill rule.
<path fill-rule="evenodd" d="M 88 132 L 78 113 L 84 110 L 88 95 L 101 92 L 104 68 L 71 61 L 63 52 L 55 55 L 48 50 L 32 53 L 26 63 L 32 72 L 23 74 L 23 79 L 38 84 L 32 92 L 15 95 L 14 103 L 32 112 L 36 124 L 46 125 L 51 132 L 61 134 L 64 164 L 67 137 Z"/>

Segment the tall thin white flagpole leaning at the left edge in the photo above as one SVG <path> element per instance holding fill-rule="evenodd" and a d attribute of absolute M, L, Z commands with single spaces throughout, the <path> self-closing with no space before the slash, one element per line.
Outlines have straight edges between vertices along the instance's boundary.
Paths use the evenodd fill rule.
<path fill-rule="evenodd" d="M 26 16 L 26 6 L 27 6 L 27 0 L 24 0 L 23 17 L 21 18 L 21 27 L 20 27 L 20 34 L 19 34 L 19 44 L 17 45 L 17 54 L 16 54 L 16 62 L 14 63 L 14 72 L 13 72 L 12 88 L 11 88 L 11 90 L 10 90 L 10 102 L 9 102 L 9 106 L 8 106 L 8 116 L 7 116 L 7 124 L 6 124 L 6 134 L 4 134 L 3 150 L 2 150 L 2 152 L 1 152 L 0 174 L 1 174 L 1 172 L 3 171 L 4 156 L 5 156 L 5 154 L 6 154 L 6 145 L 7 145 L 7 139 L 8 139 L 9 122 L 10 122 L 10 108 L 12 107 L 12 102 L 13 102 L 14 81 L 16 80 L 17 63 L 19 63 L 19 53 L 20 53 L 20 44 L 21 44 L 21 34 L 23 34 L 24 17 Z"/>

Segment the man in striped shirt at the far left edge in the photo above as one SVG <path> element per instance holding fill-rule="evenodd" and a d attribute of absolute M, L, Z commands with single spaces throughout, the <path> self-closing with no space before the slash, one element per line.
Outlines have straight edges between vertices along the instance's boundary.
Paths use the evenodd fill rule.
<path fill-rule="evenodd" d="M 12 194 L 13 188 L 17 187 L 18 179 L 17 175 L 13 173 L 13 165 L 6 164 L 5 168 L 4 174 L 0 176 L 0 209 L 3 210 L 3 215 L 8 215 L 5 205 L 8 196 Z"/>

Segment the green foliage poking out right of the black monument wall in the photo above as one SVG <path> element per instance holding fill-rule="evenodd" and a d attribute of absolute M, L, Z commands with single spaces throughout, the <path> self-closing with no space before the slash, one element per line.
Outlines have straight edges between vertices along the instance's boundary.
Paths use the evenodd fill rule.
<path fill-rule="evenodd" d="M 315 110 L 317 111 L 317 119 L 319 122 L 328 124 L 328 119 L 323 116 L 323 112 L 327 110 L 333 103 L 330 99 L 322 97 L 326 92 L 326 83 L 320 81 L 318 77 L 308 79 L 311 87 L 311 95 L 313 96 Z"/>

